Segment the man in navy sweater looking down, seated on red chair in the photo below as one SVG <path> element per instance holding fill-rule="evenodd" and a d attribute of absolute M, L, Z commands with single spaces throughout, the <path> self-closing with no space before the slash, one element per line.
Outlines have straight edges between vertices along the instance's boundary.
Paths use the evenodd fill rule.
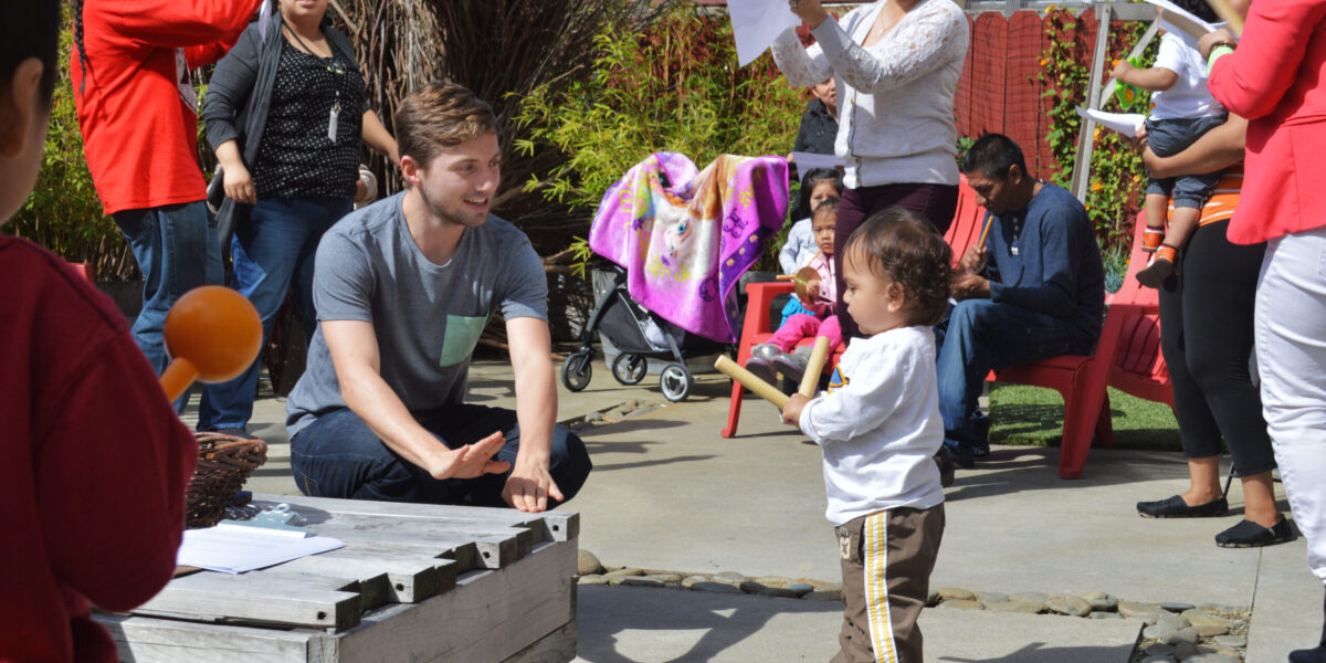
<path fill-rule="evenodd" d="M 1032 178 L 1022 150 L 987 134 L 963 162 L 989 212 L 985 245 L 963 255 L 956 306 L 939 341 L 939 411 L 959 467 L 989 451 L 977 414 L 985 377 L 1059 354 L 1091 354 L 1105 321 L 1105 267 L 1086 208 L 1066 190 Z"/>

